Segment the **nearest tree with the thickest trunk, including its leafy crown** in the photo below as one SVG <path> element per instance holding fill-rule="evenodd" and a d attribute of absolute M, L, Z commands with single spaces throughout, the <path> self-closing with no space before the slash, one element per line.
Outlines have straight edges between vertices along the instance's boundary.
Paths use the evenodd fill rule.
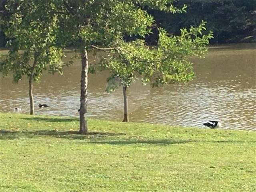
<path fill-rule="evenodd" d="M 87 134 L 88 56 L 93 45 L 112 46 L 127 35 L 144 35 L 153 22 L 151 16 L 134 5 L 132 1 L 58 1 L 56 12 L 61 13 L 61 36 L 80 51 L 81 96 L 80 133 Z M 127 20 L 127 18 L 129 18 Z M 125 21 L 125 22 L 124 22 Z"/>

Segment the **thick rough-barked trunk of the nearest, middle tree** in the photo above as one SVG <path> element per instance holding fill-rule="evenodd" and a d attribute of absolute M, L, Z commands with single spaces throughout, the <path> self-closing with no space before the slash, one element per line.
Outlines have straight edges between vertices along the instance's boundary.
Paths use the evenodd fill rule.
<path fill-rule="evenodd" d="M 88 87 L 88 56 L 86 49 L 80 52 L 82 60 L 81 97 L 80 97 L 80 134 L 87 134 L 87 87 Z"/>

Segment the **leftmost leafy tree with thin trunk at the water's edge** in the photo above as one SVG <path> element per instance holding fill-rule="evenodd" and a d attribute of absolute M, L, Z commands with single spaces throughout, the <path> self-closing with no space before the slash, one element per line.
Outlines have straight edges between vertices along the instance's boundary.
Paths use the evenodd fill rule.
<path fill-rule="evenodd" d="M 38 81 L 46 69 L 62 73 L 62 50 L 54 46 L 56 15 L 42 15 L 44 8 L 50 9 L 50 4 L 38 6 L 33 2 L 10 1 L 1 15 L 1 28 L 10 39 L 10 50 L 7 58 L 1 61 L 0 72 L 5 75 L 13 72 L 14 83 L 18 83 L 23 75 L 28 76 L 30 114 L 34 114 L 33 81 Z"/>

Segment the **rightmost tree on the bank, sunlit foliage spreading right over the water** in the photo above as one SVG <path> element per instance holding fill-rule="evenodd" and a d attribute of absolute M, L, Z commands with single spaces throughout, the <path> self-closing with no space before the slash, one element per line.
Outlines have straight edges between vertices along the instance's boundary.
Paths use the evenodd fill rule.
<path fill-rule="evenodd" d="M 119 86 L 123 88 L 124 119 L 128 122 L 128 98 L 126 90 L 138 78 L 142 84 L 151 83 L 161 86 L 175 82 L 192 80 L 194 72 L 188 56 L 202 57 L 206 52 L 212 32 L 203 34 L 206 22 L 190 30 L 182 29 L 180 36 L 168 36 L 159 28 L 156 48 L 146 46 L 144 40 L 121 42 L 102 60 L 100 70 L 110 70 L 107 91 L 112 92 Z"/>

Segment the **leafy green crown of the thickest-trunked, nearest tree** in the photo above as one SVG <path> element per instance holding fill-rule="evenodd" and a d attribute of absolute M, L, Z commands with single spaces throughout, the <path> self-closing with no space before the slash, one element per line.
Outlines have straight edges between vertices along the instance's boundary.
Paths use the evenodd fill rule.
<path fill-rule="evenodd" d="M 88 0 L 53 1 L 60 21 L 59 39 L 75 48 L 91 45 L 109 47 L 124 36 L 145 36 L 150 32 L 153 17 L 142 7 L 182 11 L 172 0 Z M 184 8 L 183 8 L 184 9 Z"/>

